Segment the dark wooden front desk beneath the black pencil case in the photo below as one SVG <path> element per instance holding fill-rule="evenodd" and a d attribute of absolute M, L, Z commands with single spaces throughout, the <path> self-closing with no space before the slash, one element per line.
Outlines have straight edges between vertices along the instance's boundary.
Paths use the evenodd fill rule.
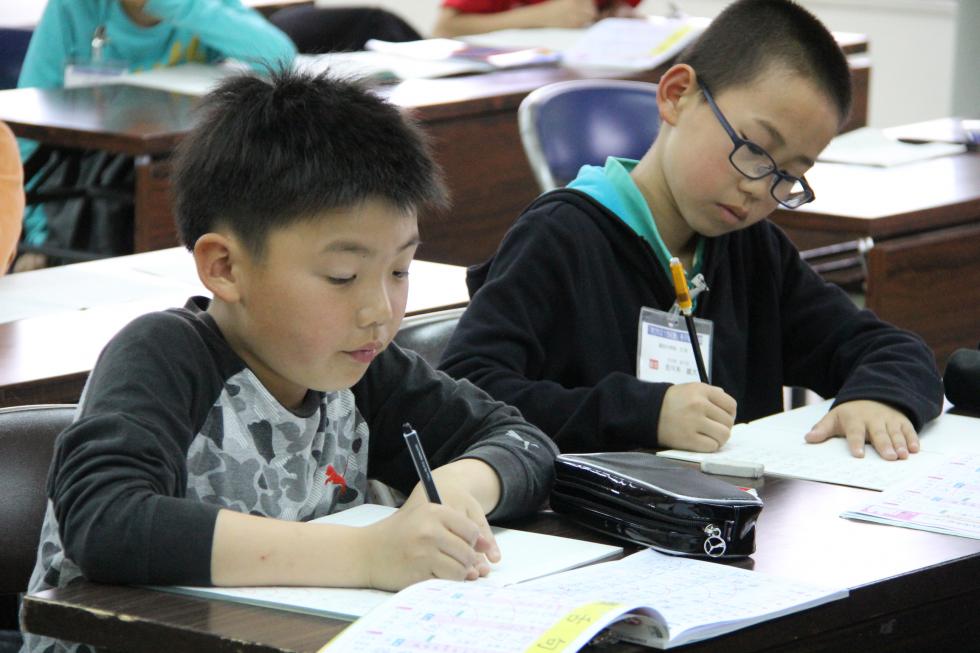
<path fill-rule="evenodd" d="M 980 542 L 852 522 L 837 514 L 867 490 L 808 481 L 755 482 L 766 508 L 757 552 L 740 566 L 828 585 L 847 599 L 682 651 L 964 650 L 980 636 Z M 513 524 L 586 539 L 552 513 Z M 30 632 L 118 651 L 313 653 L 344 622 L 152 590 L 82 582 L 24 600 Z M 597 650 L 649 651 L 631 646 Z"/>

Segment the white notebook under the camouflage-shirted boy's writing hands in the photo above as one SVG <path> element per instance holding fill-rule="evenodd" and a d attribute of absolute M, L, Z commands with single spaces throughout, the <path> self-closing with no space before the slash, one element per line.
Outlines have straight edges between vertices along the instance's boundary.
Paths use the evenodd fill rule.
<path fill-rule="evenodd" d="M 367 526 L 388 517 L 395 508 L 364 504 L 321 517 L 316 523 Z M 493 528 L 501 561 L 488 576 L 473 583 L 503 586 L 520 583 L 573 567 L 606 560 L 623 552 L 622 547 Z M 466 583 L 471 584 L 471 583 Z M 336 619 L 356 619 L 394 596 L 393 592 L 335 587 L 192 587 L 154 586 L 153 589 L 206 598 L 226 599 L 263 607 L 304 612 Z"/>

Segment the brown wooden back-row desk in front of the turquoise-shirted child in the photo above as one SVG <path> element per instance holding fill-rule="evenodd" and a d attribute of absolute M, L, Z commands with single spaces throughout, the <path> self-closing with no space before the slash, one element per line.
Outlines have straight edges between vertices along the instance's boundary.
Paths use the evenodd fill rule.
<path fill-rule="evenodd" d="M 867 39 L 843 34 L 852 55 L 854 111 L 847 129 L 867 121 Z M 663 68 L 634 77 L 655 82 Z M 411 80 L 380 89 L 430 134 L 454 207 L 421 216 L 419 258 L 471 265 L 490 256 L 521 210 L 538 195 L 524 156 L 517 107 L 552 82 L 601 76 L 568 68 Z M 190 129 L 195 98 L 131 86 L 0 91 L 0 120 L 18 136 L 53 145 L 136 156 L 137 252 L 176 244 L 167 154 Z"/>

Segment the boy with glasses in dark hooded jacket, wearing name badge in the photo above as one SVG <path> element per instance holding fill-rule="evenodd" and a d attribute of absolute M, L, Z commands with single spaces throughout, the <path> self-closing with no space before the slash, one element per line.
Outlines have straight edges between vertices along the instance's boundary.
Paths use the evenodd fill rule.
<path fill-rule="evenodd" d="M 660 79 L 662 126 L 642 159 L 583 167 L 470 271 L 443 369 L 563 451 L 715 451 L 734 422 L 779 412 L 791 385 L 836 396 L 807 441 L 846 436 L 855 456 L 870 441 L 888 460 L 916 452 L 916 429 L 942 406 L 932 352 L 856 308 L 765 219 L 813 198 L 804 173 L 846 119 L 850 89 L 843 53 L 802 7 L 729 5 Z M 638 357 L 641 309 L 666 320 L 674 304 L 674 256 L 710 289 L 695 306 L 713 323 L 710 384 L 683 320 L 644 342 L 691 371 Z"/>

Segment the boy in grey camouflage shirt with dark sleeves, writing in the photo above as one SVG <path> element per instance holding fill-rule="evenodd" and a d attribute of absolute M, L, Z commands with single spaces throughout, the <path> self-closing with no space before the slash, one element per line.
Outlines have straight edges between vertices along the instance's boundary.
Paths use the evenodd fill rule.
<path fill-rule="evenodd" d="M 174 160 L 178 231 L 214 299 L 102 352 L 58 439 L 30 591 L 127 584 L 397 590 L 475 579 L 487 519 L 536 510 L 554 445 L 391 342 L 439 170 L 398 108 L 299 73 L 227 80 Z M 420 434 L 442 504 L 402 437 Z M 407 495 L 365 528 L 308 524 Z M 30 650 L 65 650 L 26 636 Z"/>

